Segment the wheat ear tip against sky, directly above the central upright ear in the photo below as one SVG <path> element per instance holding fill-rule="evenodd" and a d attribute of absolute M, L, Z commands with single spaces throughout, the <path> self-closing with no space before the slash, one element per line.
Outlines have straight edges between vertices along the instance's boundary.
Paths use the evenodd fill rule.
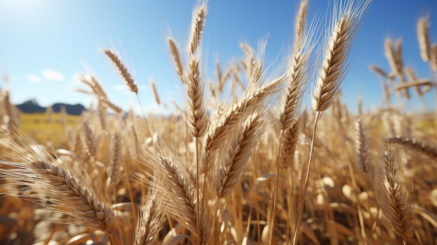
<path fill-rule="evenodd" d="M 193 20 L 191 20 L 190 36 L 188 37 L 188 53 L 195 54 L 200 47 L 203 29 L 205 28 L 205 17 L 207 15 L 207 5 L 200 4 L 193 10 Z"/>

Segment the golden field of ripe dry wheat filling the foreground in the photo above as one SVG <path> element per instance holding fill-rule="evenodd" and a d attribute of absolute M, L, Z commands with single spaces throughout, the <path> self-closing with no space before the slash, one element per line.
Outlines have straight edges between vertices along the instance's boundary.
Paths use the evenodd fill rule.
<path fill-rule="evenodd" d="M 437 91 L 428 18 L 416 31 L 429 77 L 387 38 L 390 70 L 369 66 L 385 103 L 357 98 L 353 112 L 341 88 L 371 0 L 334 1 L 326 21 L 307 17 L 309 1 L 281 58 L 241 43 L 211 80 L 200 1 L 186 43 L 165 40 L 184 105 L 150 83 L 168 116 L 125 113 L 92 75 L 80 117 L 22 114 L 1 91 L 1 244 L 437 244 L 437 110 L 406 110 Z M 119 52 L 100 51 L 142 106 Z"/>

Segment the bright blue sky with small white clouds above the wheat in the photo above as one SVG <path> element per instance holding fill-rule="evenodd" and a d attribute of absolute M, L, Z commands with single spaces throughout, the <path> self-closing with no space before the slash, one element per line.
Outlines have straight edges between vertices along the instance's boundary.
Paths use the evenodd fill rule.
<path fill-rule="evenodd" d="M 310 18 L 318 11 L 323 13 L 327 2 L 309 0 Z M 41 105 L 89 105 L 89 96 L 71 89 L 80 87 L 74 81 L 75 74 L 93 73 L 110 99 L 127 109 L 134 97 L 98 52 L 98 48 L 116 48 L 135 73 L 147 110 L 161 110 L 154 104 L 149 80 L 156 82 L 163 101 L 181 101 L 165 37 L 171 29 L 178 40 L 184 39 L 194 5 L 195 1 L 179 0 L 0 0 L 0 74 L 10 77 L 13 103 L 36 98 Z M 255 46 L 267 35 L 265 60 L 277 57 L 292 41 L 299 2 L 210 0 L 208 6 L 204 34 L 207 61 L 212 67 L 219 59 L 223 67 L 233 57 L 242 56 L 240 42 Z M 420 59 L 415 24 L 420 16 L 430 15 L 431 38 L 437 42 L 436 10 L 435 0 L 373 1 L 353 45 L 343 101 L 355 108 L 357 96 L 362 95 L 365 107 L 380 105 L 380 84 L 368 66 L 378 64 L 388 70 L 383 56 L 385 36 L 402 37 L 404 63 L 413 66 L 419 77 L 429 77 L 427 65 Z M 0 86 L 6 84 L 1 81 Z M 434 98 L 428 97 L 434 105 Z"/>

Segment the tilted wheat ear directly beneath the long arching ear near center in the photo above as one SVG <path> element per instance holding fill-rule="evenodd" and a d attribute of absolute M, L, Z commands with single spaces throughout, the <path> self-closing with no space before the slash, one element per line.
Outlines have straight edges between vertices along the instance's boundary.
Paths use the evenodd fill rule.
<path fill-rule="evenodd" d="M 224 198 L 237 187 L 249 163 L 263 130 L 263 117 L 253 114 L 244 124 L 239 137 L 217 166 L 213 188 L 218 198 Z"/>

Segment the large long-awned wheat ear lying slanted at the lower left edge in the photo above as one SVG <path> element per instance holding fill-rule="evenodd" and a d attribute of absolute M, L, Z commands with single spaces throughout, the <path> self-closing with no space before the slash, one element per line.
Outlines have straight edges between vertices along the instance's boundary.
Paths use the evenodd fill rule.
<path fill-rule="evenodd" d="M 15 144 L 15 143 L 13 143 Z M 15 145 L 17 146 L 17 145 Z M 16 150 L 16 149 L 15 149 Z M 58 211 L 68 216 L 73 216 L 83 225 L 91 229 L 109 232 L 113 214 L 110 208 L 94 192 L 91 182 L 85 178 L 76 176 L 77 170 L 64 168 L 59 163 L 49 163 L 54 161 L 38 149 L 36 156 L 22 156 L 22 161 L 17 163 L 1 161 L 3 165 L 10 165 L 16 169 L 1 169 L 3 177 L 8 179 L 15 186 L 29 186 L 32 191 L 39 195 L 22 196 L 29 198 L 32 202 L 39 200 L 49 201 L 45 207 L 52 211 Z M 38 156 L 44 156 L 45 160 L 32 160 Z M 83 173 L 82 173 L 83 174 Z M 64 221 L 63 221 L 64 220 Z M 68 218 L 63 218 L 61 222 L 66 222 Z"/>

